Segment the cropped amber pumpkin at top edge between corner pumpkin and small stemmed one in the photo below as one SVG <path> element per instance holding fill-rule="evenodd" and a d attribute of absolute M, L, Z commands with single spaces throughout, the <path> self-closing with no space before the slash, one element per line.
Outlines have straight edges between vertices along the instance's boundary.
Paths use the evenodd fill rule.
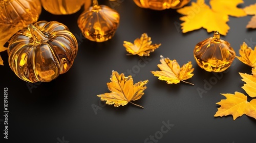
<path fill-rule="evenodd" d="M 41 0 L 42 7 L 55 15 L 73 14 L 85 7 L 91 6 L 91 0 Z"/>

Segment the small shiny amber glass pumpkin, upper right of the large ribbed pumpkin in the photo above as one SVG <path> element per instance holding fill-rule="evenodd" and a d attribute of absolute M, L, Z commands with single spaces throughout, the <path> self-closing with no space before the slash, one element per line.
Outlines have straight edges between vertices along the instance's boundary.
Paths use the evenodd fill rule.
<path fill-rule="evenodd" d="M 93 6 L 81 13 L 77 23 L 84 37 L 91 41 L 103 42 L 114 36 L 119 19 L 117 11 L 98 5 L 98 1 L 93 0 Z"/>

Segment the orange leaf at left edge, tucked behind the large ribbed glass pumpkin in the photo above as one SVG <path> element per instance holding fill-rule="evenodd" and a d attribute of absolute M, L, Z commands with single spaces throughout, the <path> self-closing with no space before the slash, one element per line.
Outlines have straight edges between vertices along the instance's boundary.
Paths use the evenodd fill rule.
<path fill-rule="evenodd" d="M 0 52 L 3 52 L 7 50 L 6 47 L 4 47 L 5 43 L 11 38 L 11 36 L 16 33 L 18 30 L 22 28 L 16 27 L 14 25 L 6 25 L 3 23 L 0 23 Z M 4 61 L 0 57 L 0 65 L 4 65 Z"/>

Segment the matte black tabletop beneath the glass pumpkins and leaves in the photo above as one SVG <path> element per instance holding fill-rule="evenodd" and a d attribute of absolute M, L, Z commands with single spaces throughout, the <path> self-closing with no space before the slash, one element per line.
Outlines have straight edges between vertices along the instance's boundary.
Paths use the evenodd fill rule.
<path fill-rule="evenodd" d="M 68 26 L 77 37 L 79 51 L 72 68 L 49 83 L 28 85 L 15 76 L 8 65 L 7 52 L 1 53 L 5 66 L 0 66 L 2 98 L 4 87 L 8 87 L 8 140 L 4 139 L 4 124 L 1 123 L 2 142 L 255 142 L 256 121 L 243 115 L 233 121 L 231 115 L 214 117 L 225 99 L 220 93 L 240 91 L 244 82 L 238 74 L 251 73 L 251 68 L 235 59 L 232 66 L 218 76 L 201 69 L 194 57 L 194 46 L 213 35 L 205 29 L 181 33 L 174 23 L 181 23 L 176 10 L 153 11 L 137 7 L 133 1 L 106 2 L 120 13 L 120 26 L 115 36 L 106 42 L 96 43 L 84 39 L 77 26 L 77 18 L 82 12 L 73 15 L 52 15 L 42 11 L 39 20 L 56 20 Z M 240 7 L 254 2 L 245 1 Z M 102 4 L 102 3 L 101 3 Z M 190 5 L 190 4 L 189 4 Z M 230 30 L 227 40 L 238 54 L 244 41 L 256 41 L 256 30 L 246 29 L 251 16 L 229 17 Z M 126 56 L 123 41 L 133 41 L 142 33 L 152 37 L 153 43 L 162 43 L 147 58 L 144 67 L 139 67 L 139 56 Z M 247 42 L 254 46 L 255 43 Z M 194 83 L 168 85 L 158 80 L 150 71 L 159 70 L 160 55 L 176 59 L 180 65 L 192 61 Z M 144 59 L 145 60 L 145 59 Z M 100 102 L 97 94 L 109 92 L 106 83 L 110 82 L 112 70 L 127 73 L 132 70 L 134 82 L 148 79 L 144 96 L 132 104 L 114 107 Z M 129 74 L 126 74 L 128 76 Z M 212 80 L 212 81 L 211 81 Z M 211 88 L 204 84 L 211 82 Z M 32 87 L 31 87 L 32 86 Z M 29 87 L 31 89 L 29 89 Z M 207 92 L 201 96 L 197 89 Z M 94 111 L 94 108 L 98 110 Z M 0 121 L 3 119 L 1 113 Z M 170 129 L 162 128 L 163 122 L 173 124 Z M 162 130 L 161 130 L 162 128 Z M 161 132 L 166 133 L 161 133 Z M 162 136 L 161 136 L 162 135 Z M 151 142 L 151 143 L 152 143 Z"/>

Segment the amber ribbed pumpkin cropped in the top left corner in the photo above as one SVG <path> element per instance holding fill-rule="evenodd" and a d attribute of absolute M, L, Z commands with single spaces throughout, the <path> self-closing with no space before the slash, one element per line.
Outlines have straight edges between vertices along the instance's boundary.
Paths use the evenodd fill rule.
<path fill-rule="evenodd" d="M 26 27 L 38 20 L 39 0 L 0 0 L 0 23 Z"/>

